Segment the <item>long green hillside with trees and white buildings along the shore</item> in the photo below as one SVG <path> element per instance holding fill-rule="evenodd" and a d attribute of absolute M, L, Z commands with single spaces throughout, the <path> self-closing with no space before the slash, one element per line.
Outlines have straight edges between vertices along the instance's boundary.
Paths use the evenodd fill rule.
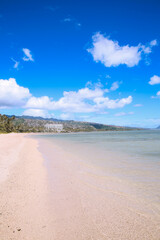
<path fill-rule="evenodd" d="M 7 116 L 0 114 L 0 133 L 10 132 L 92 132 L 125 131 L 135 128 L 104 125 L 99 123 L 44 119 L 31 116 Z"/>

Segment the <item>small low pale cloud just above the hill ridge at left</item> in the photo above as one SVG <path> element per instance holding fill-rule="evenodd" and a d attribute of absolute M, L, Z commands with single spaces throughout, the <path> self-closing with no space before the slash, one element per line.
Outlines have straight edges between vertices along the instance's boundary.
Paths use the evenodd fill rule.
<path fill-rule="evenodd" d="M 48 111 L 43 109 L 27 109 L 22 113 L 23 116 L 51 118 L 54 114 L 49 114 Z"/>

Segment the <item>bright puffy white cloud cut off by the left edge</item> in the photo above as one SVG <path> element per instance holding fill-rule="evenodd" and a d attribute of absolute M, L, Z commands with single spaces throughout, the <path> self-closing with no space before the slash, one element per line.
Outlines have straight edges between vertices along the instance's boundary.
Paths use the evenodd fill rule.
<path fill-rule="evenodd" d="M 31 96 L 29 89 L 19 86 L 14 78 L 0 79 L 0 107 L 18 107 Z"/>

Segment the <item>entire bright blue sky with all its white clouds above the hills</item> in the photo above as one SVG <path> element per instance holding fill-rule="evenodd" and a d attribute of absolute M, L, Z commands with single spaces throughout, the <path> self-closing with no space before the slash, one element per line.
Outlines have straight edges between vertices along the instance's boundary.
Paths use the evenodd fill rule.
<path fill-rule="evenodd" d="M 160 125 L 159 1 L 0 1 L 0 112 Z"/>

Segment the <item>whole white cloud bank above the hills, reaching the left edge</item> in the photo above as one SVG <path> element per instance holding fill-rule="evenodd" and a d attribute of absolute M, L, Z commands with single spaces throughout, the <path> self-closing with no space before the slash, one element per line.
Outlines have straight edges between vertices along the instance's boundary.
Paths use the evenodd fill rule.
<path fill-rule="evenodd" d="M 112 84 L 112 90 L 118 85 Z M 78 91 L 64 91 L 57 101 L 48 96 L 32 96 L 28 88 L 19 86 L 14 78 L 0 80 L 0 107 L 21 107 L 24 115 L 47 116 L 46 111 L 62 113 L 103 113 L 106 109 L 123 108 L 132 102 L 132 96 L 110 99 L 108 89 L 101 85 L 84 87 Z M 48 115 L 49 116 L 49 115 Z"/>

